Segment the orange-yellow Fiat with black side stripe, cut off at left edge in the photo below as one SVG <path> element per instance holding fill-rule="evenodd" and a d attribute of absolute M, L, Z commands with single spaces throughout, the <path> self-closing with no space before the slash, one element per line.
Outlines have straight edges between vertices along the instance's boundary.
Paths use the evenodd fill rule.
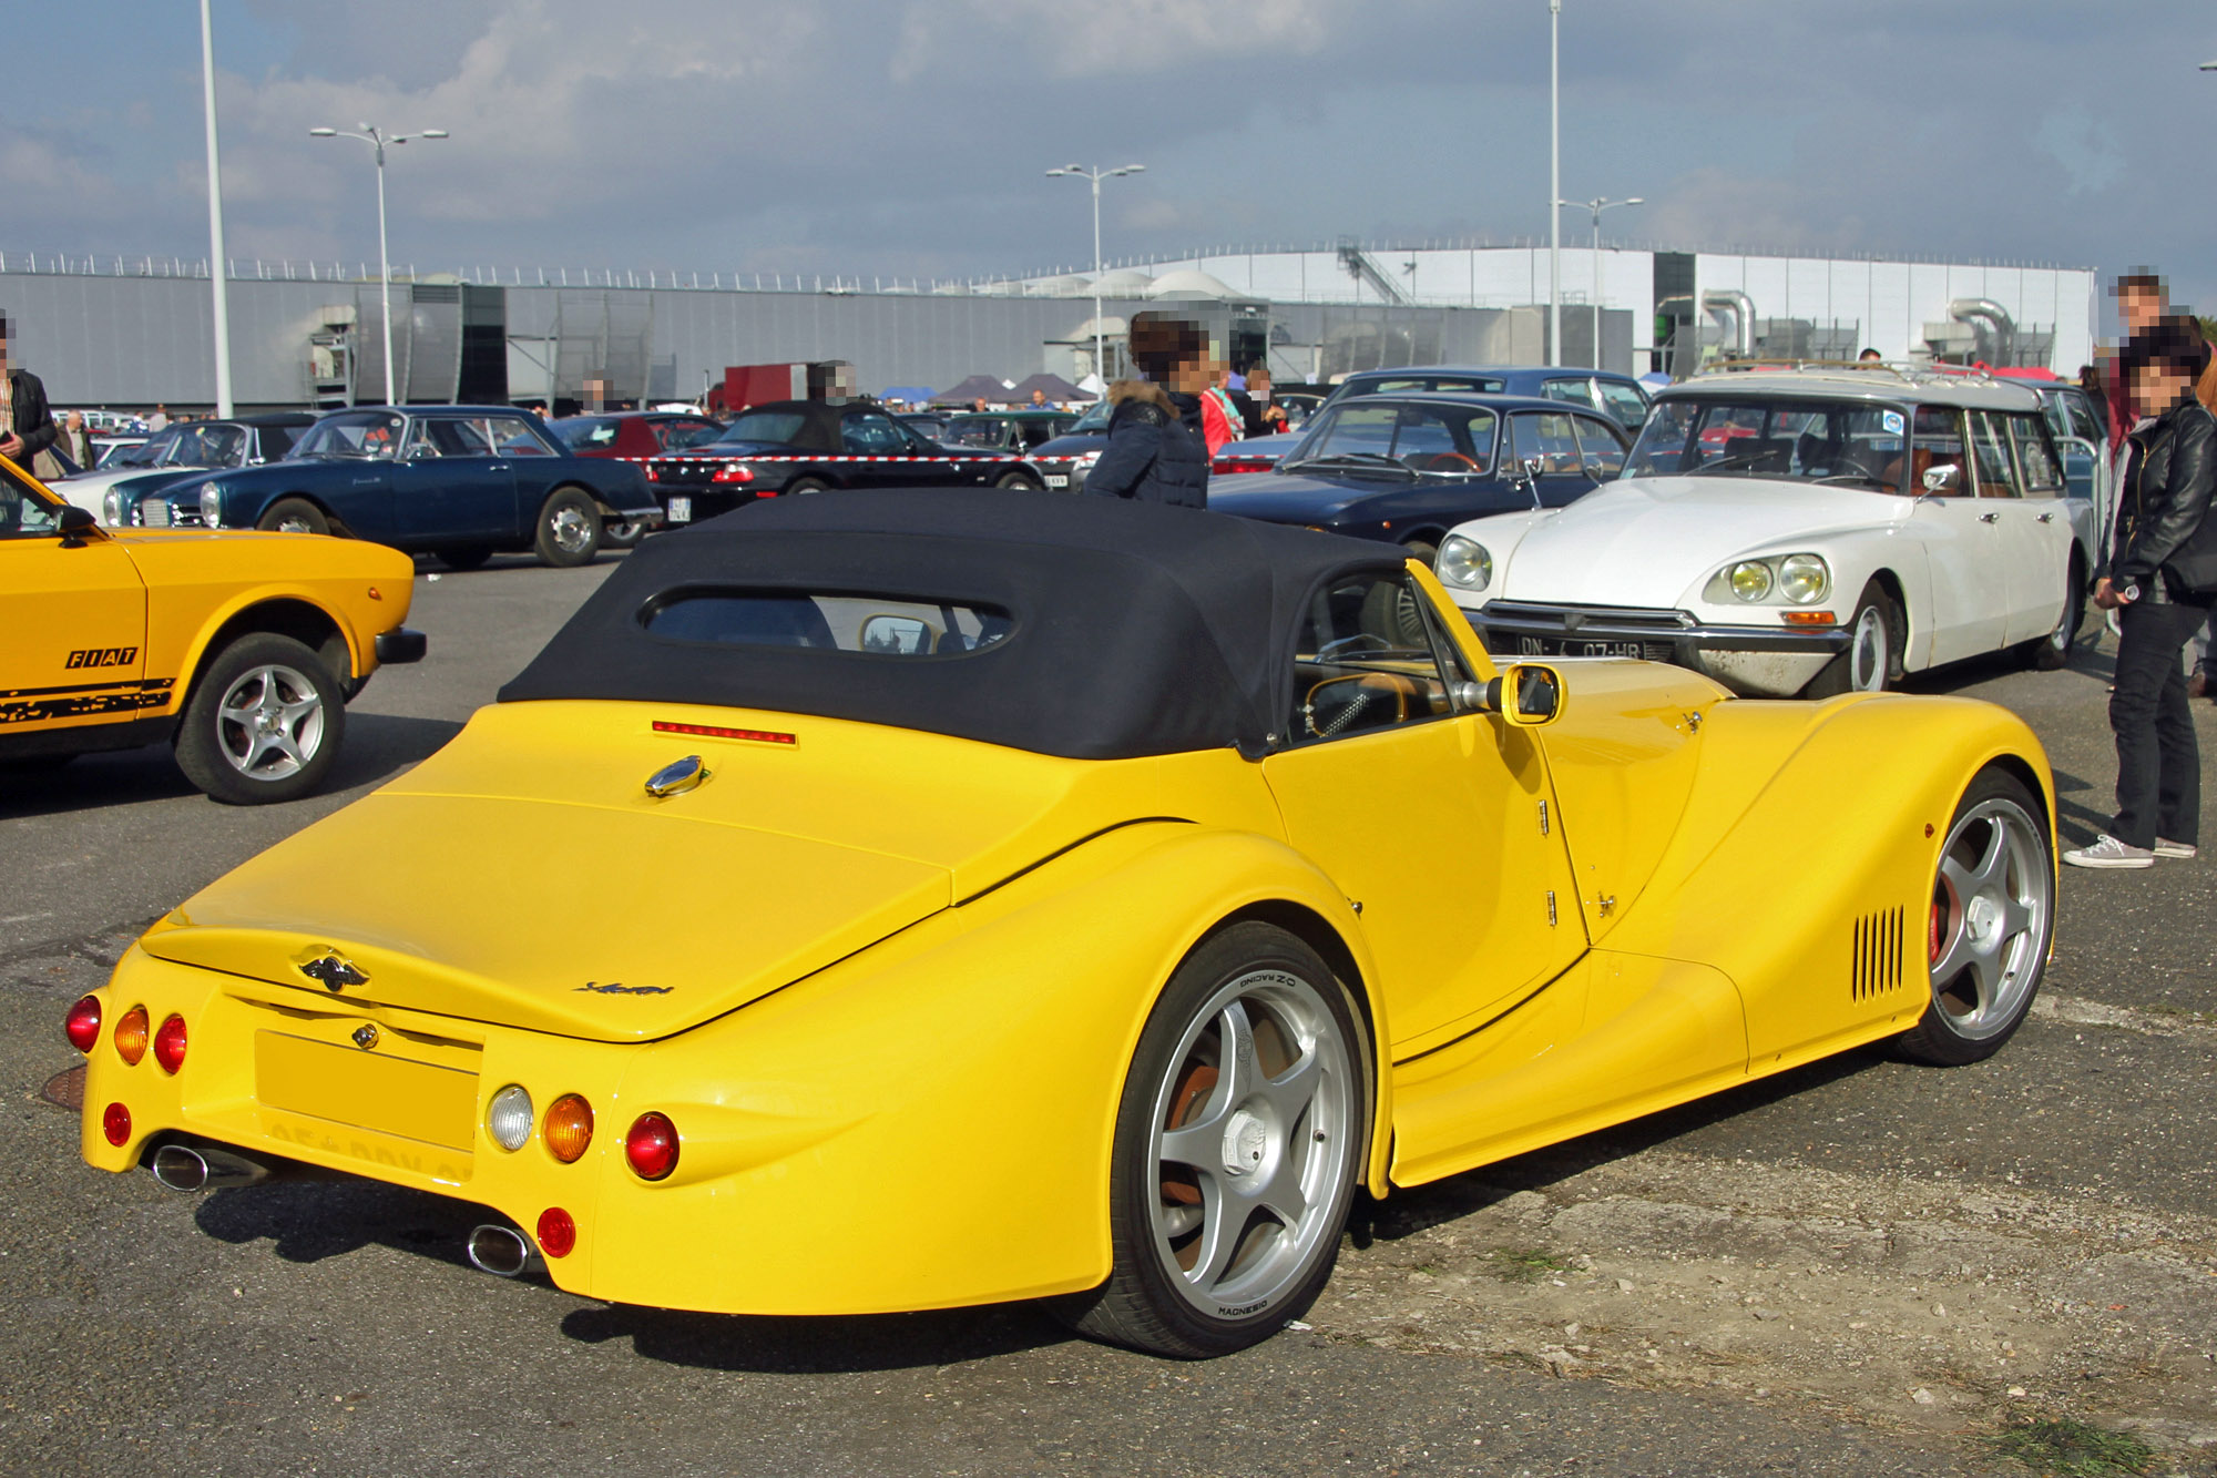
<path fill-rule="evenodd" d="M 390 548 L 100 528 L 0 457 L 0 766 L 168 739 L 217 801 L 302 797 L 370 672 L 423 657 L 412 593 Z"/>

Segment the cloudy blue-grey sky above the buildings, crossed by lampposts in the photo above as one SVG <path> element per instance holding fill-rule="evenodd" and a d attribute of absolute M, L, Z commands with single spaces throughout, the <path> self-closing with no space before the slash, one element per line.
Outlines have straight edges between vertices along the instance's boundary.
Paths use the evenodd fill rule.
<path fill-rule="evenodd" d="M 191 0 L 16 0 L 0 249 L 206 253 Z M 24 24 L 27 20 L 27 24 Z M 982 275 L 1224 242 L 1539 237 L 1545 0 L 217 0 L 235 257 Z M 1610 233 L 2153 262 L 2217 311 L 2208 0 L 1565 0 Z M 1583 215 L 1565 215 L 1570 240 Z"/>

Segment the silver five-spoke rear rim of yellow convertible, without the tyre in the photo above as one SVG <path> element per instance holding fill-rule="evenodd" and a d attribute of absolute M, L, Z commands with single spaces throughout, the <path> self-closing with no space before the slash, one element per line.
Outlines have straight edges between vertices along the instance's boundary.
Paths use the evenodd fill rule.
<path fill-rule="evenodd" d="M 1244 974 L 1195 1012 L 1155 1087 L 1153 1245 L 1208 1318 L 1255 1314 L 1293 1289 L 1355 1154 L 1355 1067 L 1315 985 Z"/>

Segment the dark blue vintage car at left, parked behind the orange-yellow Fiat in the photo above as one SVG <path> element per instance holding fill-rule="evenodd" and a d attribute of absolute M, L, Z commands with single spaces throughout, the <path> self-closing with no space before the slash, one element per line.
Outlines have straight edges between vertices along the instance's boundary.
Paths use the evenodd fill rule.
<path fill-rule="evenodd" d="M 282 528 L 439 555 L 457 570 L 497 550 L 585 564 L 610 524 L 658 526 L 632 462 L 574 457 L 530 411 L 333 411 L 268 466 L 186 477 L 140 499 L 133 524 Z"/>

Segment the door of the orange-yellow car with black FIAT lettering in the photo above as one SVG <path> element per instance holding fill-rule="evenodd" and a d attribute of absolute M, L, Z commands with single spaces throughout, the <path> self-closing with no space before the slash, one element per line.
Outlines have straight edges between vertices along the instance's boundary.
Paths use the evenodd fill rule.
<path fill-rule="evenodd" d="M 64 539 L 62 504 L 0 473 L 0 746 L 137 717 L 149 699 L 146 586 L 115 539 Z"/>

